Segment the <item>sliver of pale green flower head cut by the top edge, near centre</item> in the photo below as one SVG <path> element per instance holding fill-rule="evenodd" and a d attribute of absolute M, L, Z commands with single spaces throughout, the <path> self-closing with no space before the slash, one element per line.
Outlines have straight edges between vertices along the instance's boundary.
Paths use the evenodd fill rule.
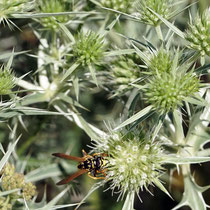
<path fill-rule="evenodd" d="M 121 12 L 130 12 L 133 8 L 134 0 L 101 0 L 104 7 L 108 7 Z"/>

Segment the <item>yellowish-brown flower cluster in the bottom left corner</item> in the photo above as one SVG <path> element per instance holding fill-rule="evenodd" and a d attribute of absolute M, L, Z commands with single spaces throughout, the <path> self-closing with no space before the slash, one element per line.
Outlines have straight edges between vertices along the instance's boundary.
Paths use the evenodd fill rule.
<path fill-rule="evenodd" d="M 24 175 L 16 173 L 14 165 L 7 163 L 1 171 L 1 175 L 1 191 L 19 189 L 8 194 L 7 197 L 0 197 L 1 209 L 10 209 L 10 207 L 12 209 L 13 201 L 16 199 L 30 200 L 36 195 L 36 186 L 31 182 L 25 182 Z"/>

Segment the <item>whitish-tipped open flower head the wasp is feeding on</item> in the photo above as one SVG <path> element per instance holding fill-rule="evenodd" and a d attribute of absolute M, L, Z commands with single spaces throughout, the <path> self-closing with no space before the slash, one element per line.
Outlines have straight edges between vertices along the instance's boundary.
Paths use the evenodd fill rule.
<path fill-rule="evenodd" d="M 151 143 L 142 136 L 129 132 L 115 132 L 100 140 L 94 141 L 94 149 L 107 156 L 107 181 L 110 188 L 117 189 L 124 195 L 126 192 L 148 190 L 148 185 L 159 182 L 162 174 L 161 145 Z"/>

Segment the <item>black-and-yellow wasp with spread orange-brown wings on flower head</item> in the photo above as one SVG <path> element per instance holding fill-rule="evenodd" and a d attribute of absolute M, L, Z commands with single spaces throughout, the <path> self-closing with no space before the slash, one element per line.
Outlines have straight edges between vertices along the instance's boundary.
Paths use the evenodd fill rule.
<path fill-rule="evenodd" d="M 67 184 L 76 177 L 87 173 L 88 176 L 92 179 L 105 179 L 106 173 L 105 173 L 105 165 L 106 160 L 104 159 L 107 154 L 105 153 L 94 153 L 93 155 L 89 155 L 85 152 L 85 150 L 82 150 L 83 157 L 75 157 L 71 155 L 67 155 L 64 153 L 53 153 L 52 155 L 67 159 L 67 160 L 74 160 L 78 161 L 77 168 L 79 169 L 76 173 L 69 175 L 67 178 L 62 179 L 57 185 L 63 185 Z"/>

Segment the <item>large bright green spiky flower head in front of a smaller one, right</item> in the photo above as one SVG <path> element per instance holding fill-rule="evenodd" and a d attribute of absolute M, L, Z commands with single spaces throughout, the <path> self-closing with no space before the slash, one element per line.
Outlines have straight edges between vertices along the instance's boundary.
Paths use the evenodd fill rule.
<path fill-rule="evenodd" d="M 198 92 L 200 81 L 192 71 L 157 74 L 149 80 L 145 98 L 156 111 L 167 113 Z"/>

